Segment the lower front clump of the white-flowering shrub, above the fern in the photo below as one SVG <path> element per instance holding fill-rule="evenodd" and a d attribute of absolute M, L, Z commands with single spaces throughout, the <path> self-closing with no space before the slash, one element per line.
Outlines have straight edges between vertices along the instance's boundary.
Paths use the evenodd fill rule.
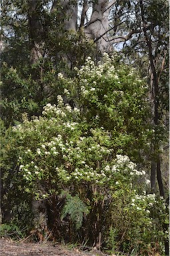
<path fill-rule="evenodd" d="M 91 233 L 91 241 L 97 241 L 102 233 L 105 244 L 107 230 L 113 227 L 117 248 L 139 247 L 145 253 L 143 247 L 149 250 L 160 239 L 151 217 L 157 200 L 147 195 L 145 171 L 137 170 L 127 155 L 115 155 L 109 131 L 103 127 L 88 131 L 79 121 L 79 109 L 64 104 L 61 96 L 57 99 L 58 105 L 44 107 L 42 117 L 29 121 L 25 116 L 21 125 L 13 127 L 22 149 L 19 183 L 25 184 L 26 193 L 47 201 L 69 191 L 89 209 L 81 223 L 87 239 Z M 163 204 L 159 207 L 165 212 Z"/>

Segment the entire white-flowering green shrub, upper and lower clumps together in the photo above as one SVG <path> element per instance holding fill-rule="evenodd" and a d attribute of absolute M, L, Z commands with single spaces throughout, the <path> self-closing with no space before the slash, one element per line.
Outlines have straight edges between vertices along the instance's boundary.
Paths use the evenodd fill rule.
<path fill-rule="evenodd" d="M 67 99 L 79 91 L 74 107 L 58 95 L 41 116 L 23 115 L 5 146 L 15 165 L 11 180 L 28 204 L 47 202 L 54 233 L 66 240 L 113 249 L 114 239 L 114 249 L 163 255 L 165 202 L 149 194 L 147 169 L 136 157 L 149 149 L 146 89 L 133 69 L 112 63 L 107 55 L 98 66 L 88 58 L 75 79 L 58 75 Z"/>

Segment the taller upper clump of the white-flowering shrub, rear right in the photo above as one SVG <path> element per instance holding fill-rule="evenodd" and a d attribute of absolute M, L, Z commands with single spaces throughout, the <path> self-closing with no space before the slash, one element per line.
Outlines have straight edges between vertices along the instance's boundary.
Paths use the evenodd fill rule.
<path fill-rule="evenodd" d="M 153 134 L 146 122 L 149 105 L 145 80 L 135 69 L 119 63 L 116 55 L 109 57 L 107 53 L 97 65 L 88 57 L 85 65 L 75 67 L 75 71 L 73 79 L 59 73 L 65 97 L 75 99 L 87 123 L 111 132 L 117 153 L 141 161 L 142 151 L 150 153 Z"/>

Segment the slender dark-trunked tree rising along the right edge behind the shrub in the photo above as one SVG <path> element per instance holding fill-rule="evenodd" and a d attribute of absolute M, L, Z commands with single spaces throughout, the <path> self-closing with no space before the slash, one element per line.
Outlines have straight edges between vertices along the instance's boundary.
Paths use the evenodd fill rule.
<path fill-rule="evenodd" d="M 169 20 L 167 12 L 169 5 L 167 1 L 145 1 L 145 3 L 129 1 L 128 7 L 125 4 L 123 7 L 120 3 L 121 1 L 117 2 L 113 15 L 114 21 L 117 13 L 121 13 L 122 20 L 124 18 L 123 22 L 119 23 L 118 29 L 126 32 L 133 27 L 134 30 L 138 30 L 138 33 L 133 34 L 129 41 L 125 40 L 123 53 L 128 57 L 130 63 L 140 67 L 140 72 L 144 77 L 148 77 L 149 101 L 153 112 L 151 123 L 155 129 L 155 139 L 151 143 L 153 154 L 150 156 L 152 161 L 151 189 L 156 190 L 157 176 L 160 194 L 164 196 L 159 148 L 167 141 L 165 134 L 167 133 L 166 127 L 168 130 L 169 126 L 166 117 L 169 109 L 167 84 L 167 71 L 169 70 Z M 159 15 L 160 10 L 161 15 Z M 127 15 L 126 19 L 125 15 Z"/>

